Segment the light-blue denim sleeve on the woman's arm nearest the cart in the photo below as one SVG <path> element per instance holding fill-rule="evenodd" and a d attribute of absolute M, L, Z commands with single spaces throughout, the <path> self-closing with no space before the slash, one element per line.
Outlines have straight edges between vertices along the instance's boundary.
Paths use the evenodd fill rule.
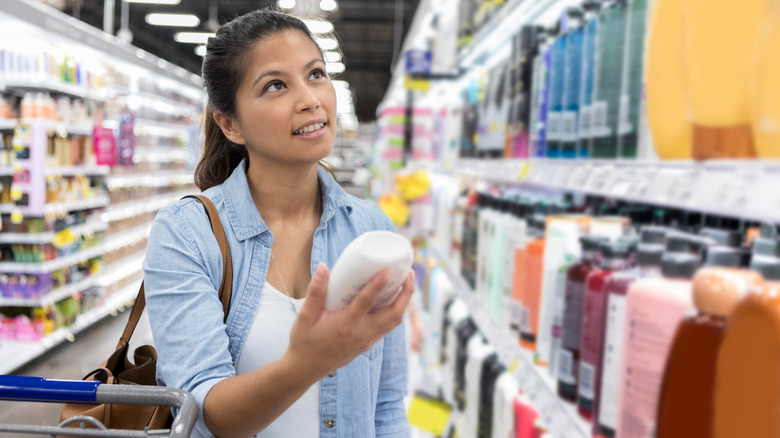
<path fill-rule="evenodd" d="M 199 407 L 192 436 L 212 436 L 203 420 L 203 403 L 211 388 L 235 375 L 235 369 L 217 292 L 219 250 L 205 213 L 183 214 L 202 208 L 193 203 L 158 213 L 143 263 L 144 284 L 158 353 L 157 382 L 192 393 Z"/>

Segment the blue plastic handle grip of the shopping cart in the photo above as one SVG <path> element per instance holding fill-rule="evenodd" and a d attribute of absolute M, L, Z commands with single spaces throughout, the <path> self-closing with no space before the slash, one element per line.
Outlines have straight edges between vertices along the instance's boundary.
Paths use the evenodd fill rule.
<path fill-rule="evenodd" d="M 100 382 L 0 376 L 0 400 L 49 403 L 95 403 Z"/>

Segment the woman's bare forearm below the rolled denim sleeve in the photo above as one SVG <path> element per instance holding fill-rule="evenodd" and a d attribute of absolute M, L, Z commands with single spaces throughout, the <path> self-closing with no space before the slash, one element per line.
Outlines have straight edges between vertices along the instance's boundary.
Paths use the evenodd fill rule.
<path fill-rule="evenodd" d="M 321 377 L 290 354 L 251 373 L 229 377 L 206 397 L 206 426 L 220 438 L 252 436 L 273 423 Z"/>

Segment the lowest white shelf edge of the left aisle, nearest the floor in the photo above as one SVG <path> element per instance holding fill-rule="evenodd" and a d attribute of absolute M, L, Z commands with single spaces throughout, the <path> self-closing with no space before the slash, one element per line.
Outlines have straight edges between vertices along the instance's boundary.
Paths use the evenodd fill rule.
<path fill-rule="evenodd" d="M 131 305 L 138 293 L 140 281 L 133 282 L 124 289 L 106 298 L 105 302 L 76 319 L 76 322 L 68 327 L 57 330 L 47 335 L 40 341 L 0 341 L 0 374 L 11 374 L 13 371 L 41 356 L 64 341 L 73 341 L 75 335 L 85 328 L 95 324 L 108 315 L 124 310 Z"/>

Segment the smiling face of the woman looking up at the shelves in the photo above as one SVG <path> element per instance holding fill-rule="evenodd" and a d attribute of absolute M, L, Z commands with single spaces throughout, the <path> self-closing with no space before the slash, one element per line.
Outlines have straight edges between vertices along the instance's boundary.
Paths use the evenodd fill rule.
<path fill-rule="evenodd" d="M 253 156 L 290 164 L 327 157 L 336 138 L 336 91 L 314 42 L 287 30 L 255 44 L 231 126 L 220 125 L 246 145 L 250 163 Z"/>

